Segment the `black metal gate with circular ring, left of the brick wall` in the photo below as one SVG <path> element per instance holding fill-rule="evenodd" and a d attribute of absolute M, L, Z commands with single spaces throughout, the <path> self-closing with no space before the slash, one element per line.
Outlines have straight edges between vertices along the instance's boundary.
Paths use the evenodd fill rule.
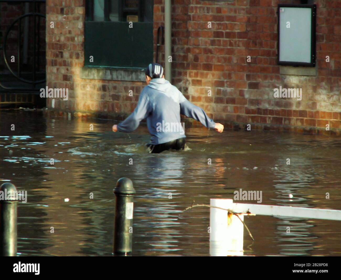
<path fill-rule="evenodd" d="M 45 88 L 45 9 L 45 0 L 0 0 L 0 93 Z"/>

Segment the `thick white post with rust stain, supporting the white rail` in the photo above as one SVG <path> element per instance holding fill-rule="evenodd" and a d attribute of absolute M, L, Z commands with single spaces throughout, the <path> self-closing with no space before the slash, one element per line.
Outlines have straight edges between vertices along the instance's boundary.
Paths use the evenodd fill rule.
<path fill-rule="evenodd" d="M 210 199 L 211 206 L 233 208 L 232 199 Z M 244 220 L 244 216 L 239 216 Z M 243 255 L 244 226 L 238 217 L 226 210 L 210 208 L 210 255 Z"/>

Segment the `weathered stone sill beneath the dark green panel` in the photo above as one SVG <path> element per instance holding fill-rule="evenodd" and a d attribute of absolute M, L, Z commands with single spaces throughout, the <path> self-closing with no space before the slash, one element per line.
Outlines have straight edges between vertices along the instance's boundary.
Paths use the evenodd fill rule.
<path fill-rule="evenodd" d="M 114 67 L 82 67 L 81 79 L 136 81 L 146 80 L 143 68 L 114 68 Z"/>

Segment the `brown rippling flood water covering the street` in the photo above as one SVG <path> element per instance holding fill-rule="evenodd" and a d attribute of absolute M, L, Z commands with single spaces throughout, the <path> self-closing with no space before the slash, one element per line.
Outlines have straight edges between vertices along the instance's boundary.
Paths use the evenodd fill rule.
<path fill-rule="evenodd" d="M 209 255 L 209 208 L 181 211 L 239 189 L 262 191 L 262 204 L 341 210 L 340 138 L 188 128 L 189 149 L 149 154 L 145 126 L 124 134 L 113 124 L 0 112 L 0 184 L 28 195 L 18 203 L 18 255 L 112 255 L 120 177 L 136 189 L 133 255 Z M 340 221 L 244 221 L 255 239 L 244 230 L 244 255 L 341 255 Z"/>

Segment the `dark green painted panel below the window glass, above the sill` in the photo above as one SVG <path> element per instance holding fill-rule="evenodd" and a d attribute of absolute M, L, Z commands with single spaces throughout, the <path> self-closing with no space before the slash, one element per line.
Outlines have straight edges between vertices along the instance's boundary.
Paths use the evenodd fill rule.
<path fill-rule="evenodd" d="M 145 68 L 153 61 L 153 23 L 85 22 L 84 48 L 85 66 Z"/>

